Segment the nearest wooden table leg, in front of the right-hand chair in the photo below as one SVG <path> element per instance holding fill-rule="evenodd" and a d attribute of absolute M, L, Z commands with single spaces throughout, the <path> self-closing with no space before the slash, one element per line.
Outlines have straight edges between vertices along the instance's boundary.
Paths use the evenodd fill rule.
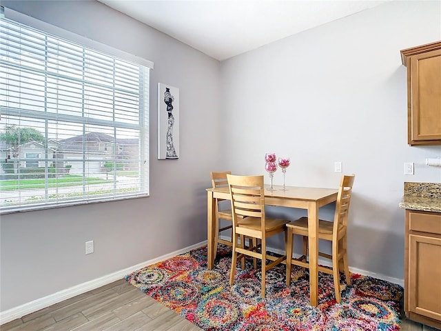
<path fill-rule="evenodd" d="M 309 300 L 317 306 L 318 294 L 318 207 L 308 203 L 308 240 L 309 240 Z"/>

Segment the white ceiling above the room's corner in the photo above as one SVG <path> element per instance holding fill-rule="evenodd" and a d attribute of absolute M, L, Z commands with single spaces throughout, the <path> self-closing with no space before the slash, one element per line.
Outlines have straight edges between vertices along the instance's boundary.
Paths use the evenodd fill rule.
<path fill-rule="evenodd" d="M 219 61 L 391 0 L 98 0 Z"/>

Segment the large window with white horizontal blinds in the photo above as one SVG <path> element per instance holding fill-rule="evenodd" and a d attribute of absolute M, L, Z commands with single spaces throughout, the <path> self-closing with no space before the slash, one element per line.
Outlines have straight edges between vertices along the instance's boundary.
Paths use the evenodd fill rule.
<path fill-rule="evenodd" d="M 1 212 L 147 196 L 150 68 L 10 19 L 0 40 Z"/>

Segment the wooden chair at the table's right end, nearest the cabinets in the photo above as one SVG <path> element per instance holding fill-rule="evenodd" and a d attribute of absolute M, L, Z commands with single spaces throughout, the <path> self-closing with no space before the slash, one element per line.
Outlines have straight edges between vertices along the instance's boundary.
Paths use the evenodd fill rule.
<path fill-rule="evenodd" d="M 340 262 L 342 270 L 345 272 L 346 283 L 351 285 L 351 275 L 349 274 L 349 265 L 347 262 L 347 220 L 349 213 L 349 203 L 351 202 L 352 186 L 355 175 L 344 175 L 340 180 L 340 188 L 336 201 L 336 211 L 334 221 L 318 221 L 318 239 L 325 239 L 332 242 L 331 254 L 318 252 L 320 257 L 332 260 L 332 268 L 318 266 L 318 271 L 332 274 L 334 278 L 334 290 L 336 292 L 336 301 L 341 302 L 340 294 Z M 301 217 L 296 221 L 287 224 L 287 286 L 291 283 L 291 265 L 300 265 L 303 268 L 309 268 L 308 257 L 308 218 Z M 298 259 L 292 259 L 292 247 L 294 234 L 300 234 L 303 237 L 303 255 Z"/>

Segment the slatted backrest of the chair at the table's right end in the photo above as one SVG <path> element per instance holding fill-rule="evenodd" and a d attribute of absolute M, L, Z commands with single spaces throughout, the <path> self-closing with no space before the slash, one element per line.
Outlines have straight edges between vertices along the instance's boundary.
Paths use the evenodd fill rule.
<path fill-rule="evenodd" d="M 352 187 L 355 175 L 345 175 L 340 181 L 338 190 L 336 212 L 334 215 L 334 235 L 338 234 L 338 230 L 347 227 L 349 216 L 349 205 L 352 196 Z"/>

